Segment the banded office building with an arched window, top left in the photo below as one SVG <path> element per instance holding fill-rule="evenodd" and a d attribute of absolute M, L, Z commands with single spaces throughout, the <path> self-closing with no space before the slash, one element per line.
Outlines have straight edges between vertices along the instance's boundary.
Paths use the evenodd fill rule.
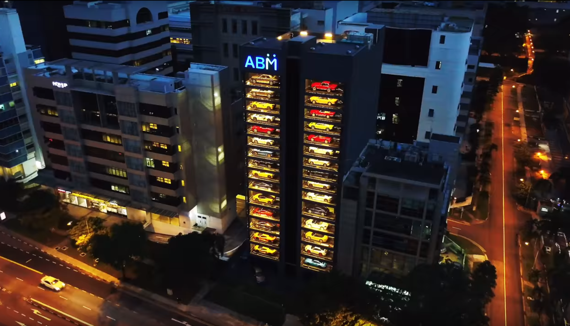
<path fill-rule="evenodd" d="M 75 1 L 63 10 L 74 59 L 173 72 L 166 1 Z"/>

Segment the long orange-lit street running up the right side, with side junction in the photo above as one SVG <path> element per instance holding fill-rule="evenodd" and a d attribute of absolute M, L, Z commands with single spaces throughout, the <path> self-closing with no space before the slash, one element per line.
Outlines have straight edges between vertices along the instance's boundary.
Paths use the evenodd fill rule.
<path fill-rule="evenodd" d="M 511 124 L 518 117 L 509 101 L 512 82 L 504 81 L 502 89 L 487 113 L 487 120 L 494 122 L 492 142 L 498 146 L 493 153 L 491 168 L 491 196 L 489 217 L 482 224 L 465 225 L 449 221 L 448 229 L 477 242 L 485 250 L 497 269 L 495 298 L 488 307 L 491 326 L 524 325 L 523 302 L 520 283 L 519 250 L 516 234 L 526 218 L 518 211 L 511 195 L 514 172 L 512 145 L 518 137 L 512 133 Z"/>

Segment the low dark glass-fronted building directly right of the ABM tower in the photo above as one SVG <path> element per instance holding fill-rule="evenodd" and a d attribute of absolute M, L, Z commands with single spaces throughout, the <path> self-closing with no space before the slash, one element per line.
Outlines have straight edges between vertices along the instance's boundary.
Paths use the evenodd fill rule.
<path fill-rule="evenodd" d="M 340 270 L 403 275 L 438 262 L 459 141 L 433 134 L 425 146 L 368 143 L 343 183 Z"/>

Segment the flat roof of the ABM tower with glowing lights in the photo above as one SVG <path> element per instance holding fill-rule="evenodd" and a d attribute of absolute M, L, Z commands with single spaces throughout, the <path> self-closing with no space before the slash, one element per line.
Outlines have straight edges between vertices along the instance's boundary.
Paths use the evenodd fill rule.
<path fill-rule="evenodd" d="M 342 34 L 317 34 L 307 32 L 290 32 L 278 38 L 258 38 L 249 43 L 243 44 L 245 47 L 257 47 L 266 49 L 282 49 L 287 42 L 314 43 L 312 52 L 326 53 L 333 55 L 353 56 L 364 48 L 372 46 L 372 34 L 356 33 L 352 35 Z"/>

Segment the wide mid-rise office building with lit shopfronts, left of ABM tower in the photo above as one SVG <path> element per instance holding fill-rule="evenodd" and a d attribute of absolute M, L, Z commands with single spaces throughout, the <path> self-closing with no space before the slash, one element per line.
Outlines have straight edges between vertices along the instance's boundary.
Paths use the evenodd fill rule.
<path fill-rule="evenodd" d="M 181 78 L 145 69 L 74 59 L 26 69 L 48 167 L 37 182 L 152 232 L 223 233 L 235 217 L 223 146 L 227 69 L 196 64 Z"/>

